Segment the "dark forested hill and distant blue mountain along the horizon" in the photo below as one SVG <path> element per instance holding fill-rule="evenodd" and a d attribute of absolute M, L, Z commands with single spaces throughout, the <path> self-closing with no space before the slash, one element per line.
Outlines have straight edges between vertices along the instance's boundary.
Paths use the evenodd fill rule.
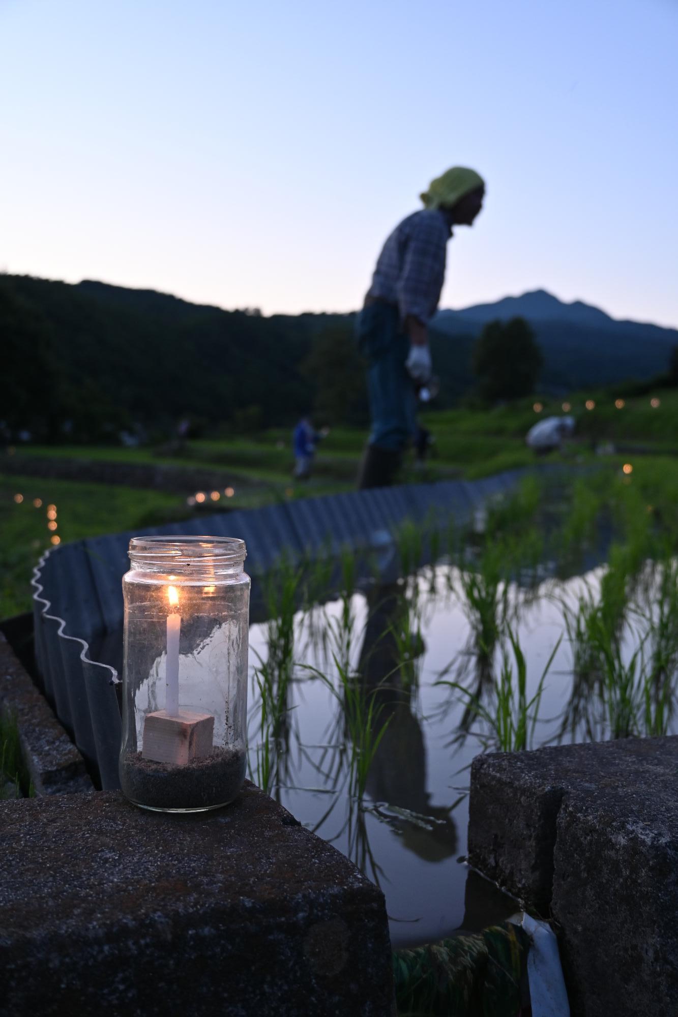
<path fill-rule="evenodd" d="M 473 384 L 470 351 L 493 318 L 525 317 L 543 348 L 542 391 L 560 393 L 666 370 L 678 332 L 615 321 L 545 291 L 441 311 L 432 350 L 450 406 Z M 184 415 L 241 429 L 319 421 L 364 423 L 364 369 L 352 315 L 263 317 L 150 290 L 0 275 L 0 424 L 41 439 L 100 440 Z"/>

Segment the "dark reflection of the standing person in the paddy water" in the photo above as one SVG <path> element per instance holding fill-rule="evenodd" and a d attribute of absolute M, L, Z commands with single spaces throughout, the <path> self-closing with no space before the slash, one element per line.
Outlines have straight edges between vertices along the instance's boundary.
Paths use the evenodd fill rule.
<path fill-rule="evenodd" d="M 427 861 L 441 861 L 454 854 L 457 832 L 449 807 L 432 805 L 427 791 L 423 735 L 411 712 L 412 684 L 400 663 L 394 635 L 405 614 L 402 587 L 377 586 L 368 594 L 369 616 L 360 652 L 359 670 L 365 694 L 375 697 L 378 728 L 390 717 L 368 776 L 368 792 L 375 802 L 415 813 L 392 823 L 402 842 Z M 412 639 L 414 636 L 412 635 Z M 420 647 L 414 652 L 421 652 Z M 426 829 L 427 818 L 431 829 Z"/>

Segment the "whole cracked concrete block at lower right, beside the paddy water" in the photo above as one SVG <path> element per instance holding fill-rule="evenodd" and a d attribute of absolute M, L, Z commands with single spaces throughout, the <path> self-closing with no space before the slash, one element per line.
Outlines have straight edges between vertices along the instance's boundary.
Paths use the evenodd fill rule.
<path fill-rule="evenodd" d="M 678 1013 L 678 736 L 478 757 L 468 855 L 559 931 L 576 1017 Z"/>

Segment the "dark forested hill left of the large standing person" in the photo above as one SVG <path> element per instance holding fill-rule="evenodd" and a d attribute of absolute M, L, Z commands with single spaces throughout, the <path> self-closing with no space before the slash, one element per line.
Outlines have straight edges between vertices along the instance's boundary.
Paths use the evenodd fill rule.
<path fill-rule="evenodd" d="M 0 335 L 12 379 L 0 418 L 39 434 L 90 437 L 182 415 L 289 422 L 314 386 L 300 371 L 328 315 L 265 318 L 102 283 L 0 277 Z M 342 319 L 346 322 L 346 319 Z M 346 322 L 348 325 L 348 322 Z M 47 436 L 47 435 L 44 435 Z"/>

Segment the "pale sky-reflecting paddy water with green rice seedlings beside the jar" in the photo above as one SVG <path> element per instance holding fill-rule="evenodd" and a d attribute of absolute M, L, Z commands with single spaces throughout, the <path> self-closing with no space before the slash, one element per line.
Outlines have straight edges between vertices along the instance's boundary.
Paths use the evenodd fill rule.
<path fill-rule="evenodd" d="M 525 586 L 478 570 L 250 631 L 250 775 L 381 886 L 394 947 L 516 909 L 460 860 L 475 755 L 675 729 L 670 563 Z"/>

